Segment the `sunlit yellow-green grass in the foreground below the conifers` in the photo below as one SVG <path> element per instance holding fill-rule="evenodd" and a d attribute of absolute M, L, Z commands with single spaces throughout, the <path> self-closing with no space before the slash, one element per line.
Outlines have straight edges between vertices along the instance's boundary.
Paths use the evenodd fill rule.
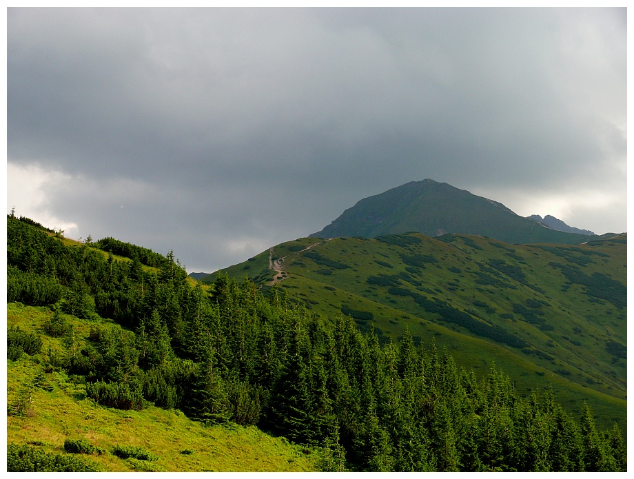
<path fill-rule="evenodd" d="M 8 326 L 38 331 L 48 307 L 8 305 Z M 64 315 L 78 337 L 95 325 Z M 110 320 L 103 320 L 108 323 Z M 83 454 L 103 471 L 314 471 L 316 453 L 274 438 L 256 427 L 203 426 L 181 411 L 146 407 L 142 411 L 121 411 L 101 407 L 86 398 L 79 378 L 62 371 L 45 371 L 43 356 L 62 354 L 60 338 L 41 335 L 41 354 L 23 355 L 7 364 L 7 404 L 14 405 L 29 383 L 41 374 L 43 381 L 32 388 L 32 403 L 25 416 L 8 416 L 7 442 L 30 444 L 48 453 L 64 454 L 66 439 L 88 440 L 102 449 L 100 455 Z M 49 349 L 50 348 L 50 349 Z M 142 447 L 158 456 L 156 461 L 123 460 L 112 453 L 115 445 Z"/>

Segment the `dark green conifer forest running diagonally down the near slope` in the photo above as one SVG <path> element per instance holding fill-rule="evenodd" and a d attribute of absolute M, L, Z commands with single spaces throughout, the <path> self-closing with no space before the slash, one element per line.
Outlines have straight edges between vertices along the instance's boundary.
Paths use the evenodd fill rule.
<path fill-rule="evenodd" d="M 7 219 L 8 302 L 52 305 L 42 329 L 68 347 L 48 367 L 85 378 L 102 405 L 257 425 L 323 448 L 329 471 L 626 471 L 617 425 L 597 430 L 589 407 L 573 418 L 550 391 L 522 398 L 495 367 L 478 379 L 409 333 L 380 345 L 276 287 L 265 297 L 219 276 L 206 291 L 172 252 L 112 238 L 65 246 L 32 223 Z M 88 337 L 62 313 L 94 321 Z"/>

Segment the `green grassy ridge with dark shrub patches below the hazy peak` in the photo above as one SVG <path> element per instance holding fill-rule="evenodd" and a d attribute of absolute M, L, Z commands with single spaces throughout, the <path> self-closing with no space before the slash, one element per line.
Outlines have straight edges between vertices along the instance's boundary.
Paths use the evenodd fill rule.
<path fill-rule="evenodd" d="M 576 246 L 458 234 L 300 238 L 225 271 L 266 288 L 272 266 L 308 309 L 341 309 L 385 340 L 407 327 L 466 367 L 494 362 L 524 393 L 551 385 L 571 411 L 586 400 L 604 424 L 625 423 L 626 235 Z"/>

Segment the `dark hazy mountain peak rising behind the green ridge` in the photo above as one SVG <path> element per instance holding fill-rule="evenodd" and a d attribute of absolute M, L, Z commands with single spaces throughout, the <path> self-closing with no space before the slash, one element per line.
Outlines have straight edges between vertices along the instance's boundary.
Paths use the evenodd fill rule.
<path fill-rule="evenodd" d="M 555 230 L 515 214 L 502 203 L 431 179 L 411 181 L 364 198 L 310 236 L 375 238 L 406 232 L 473 234 L 515 244 L 576 244 L 589 238 Z"/>

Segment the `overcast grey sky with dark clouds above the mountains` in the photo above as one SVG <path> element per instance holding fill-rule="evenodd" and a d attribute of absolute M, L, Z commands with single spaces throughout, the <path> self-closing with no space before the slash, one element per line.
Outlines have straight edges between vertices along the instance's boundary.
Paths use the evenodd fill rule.
<path fill-rule="evenodd" d="M 626 10 L 8 9 L 8 211 L 213 272 L 431 178 L 626 230 Z"/>

